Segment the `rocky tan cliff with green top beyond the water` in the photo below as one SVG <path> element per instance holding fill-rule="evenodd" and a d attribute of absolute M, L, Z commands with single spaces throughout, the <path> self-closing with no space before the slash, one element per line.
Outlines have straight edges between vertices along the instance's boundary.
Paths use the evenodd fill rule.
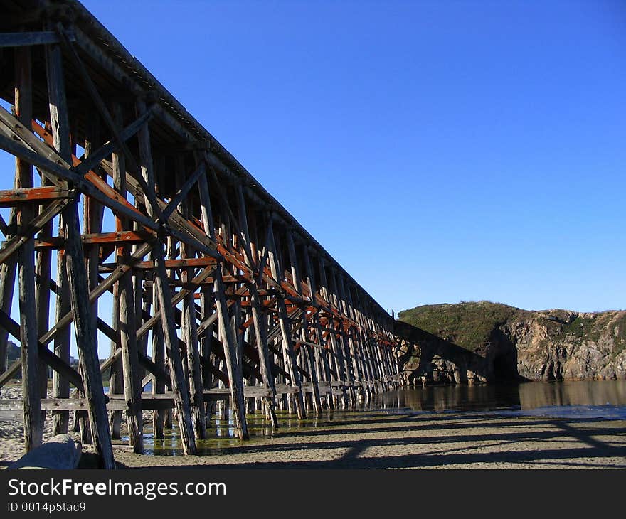
<path fill-rule="evenodd" d="M 418 306 L 398 317 L 447 343 L 450 351 L 460 346 L 472 352 L 452 358 L 425 336 L 405 352 L 409 379 L 626 378 L 626 311 L 528 311 L 479 301 Z"/>

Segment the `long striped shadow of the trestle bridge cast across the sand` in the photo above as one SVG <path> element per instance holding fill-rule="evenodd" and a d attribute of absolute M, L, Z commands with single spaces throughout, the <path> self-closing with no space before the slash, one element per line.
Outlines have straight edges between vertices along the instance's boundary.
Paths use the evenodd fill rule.
<path fill-rule="evenodd" d="M 415 424 L 407 427 L 405 422 L 411 419 L 415 419 Z M 387 422 L 389 427 L 376 427 L 373 422 L 369 422 L 370 427 L 367 427 L 367 422 L 362 421 L 364 427 L 358 427 L 360 424 L 356 423 L 355 429 L 355 422 L 351 422 L 351 428 L 285 434 L 285 438 L 300 437 L 296 442 L 248 444 L 223 451 L 227 455 L 253 456 L 262 461 L 221 463 L 220 456 L 214 455 L 199 456 L 198 464 L 171 466 L 159 464 L 157 456 L 151 459 L 149 469 L 161 466 L 184 469 L 202 466 L 211 469 L 405 469 L 474 464 L 506 464 L 509 467 L 519 464 L 562 464 L 570 467 L 624 468 L 624 464 L 615 463 L 615 458 L 626 461 L 626 444 L 623 442 L 626 427 L 588 427 L 600 421 L 595 418 L 494 421 L 493 416 L 488 415 L 470 419 L 467 415 L 420 416 L 419 419 L 405 416 L 401 421 Z M 403 427 L 393 427 L 393 424 L 403 424 Z M 420 434 L 431 431 L 435 431 L 436 435 Z M 400 434 L 397 437 L 387 435 L 398 432 Z M 369 434 L 383 437 L 368 437 Z M 319 436 L 324 439 L 315 441 Z M 312 438 L 312 441 L 307 442 L 307 437 Z M 600 439 L 603 437 L 619 439 L 622 443 L 615 446 Z M 529 445 L 525 446 L 525 442 Z M 299 459 L 272 459 L 276 453 L 289 451 Z M 329 451 L 335 451 L 331 453 L 335 459 L 319 459 L 329 456 Z"/>

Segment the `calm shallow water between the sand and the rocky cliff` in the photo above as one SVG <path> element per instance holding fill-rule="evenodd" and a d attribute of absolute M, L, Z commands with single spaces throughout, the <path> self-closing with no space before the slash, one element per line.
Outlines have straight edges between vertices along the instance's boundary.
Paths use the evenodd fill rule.
<path fill-rule="evenodd" d="M 278 412 L 280 429 L 268 427 L 261 414 L 248 415 L 251 442 L 262 441 L 275 434 L 290 434 L 297 430 L 357 421 L 379 412 L 432 413 L 469 412 L 487 414 L 533 415 L 564 418 L 626 419 L 626 380 L 590 382 L 526 382 L 520 385 L 446 385 L 418 387 L 386 392 L 369 406 L 354 409 L 324 411 L 299 422 L 285 412 Z M 149 432 L 149 428 L 147 432 Z M 212 420 L 207 440 L 198 441 L 201 454 L 221 454 L 242 442 L 235 436 L 233 419 Z M 152 454 L 179 455 L 178 430 L 166 431 L 163 440 L 145 435 L 146 451 Z"/>

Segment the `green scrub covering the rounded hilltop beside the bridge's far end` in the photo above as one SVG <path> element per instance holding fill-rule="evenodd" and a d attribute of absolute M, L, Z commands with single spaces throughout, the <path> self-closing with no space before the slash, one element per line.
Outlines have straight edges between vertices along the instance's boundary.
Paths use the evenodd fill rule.
<path fill-rule="evenodd" d="M 495 328 L 521 312 L 524 310 L 490 301 L 462 301 L 417 306 L 401 311 L 398 318 L 467 350 L 480 352 Z"/>

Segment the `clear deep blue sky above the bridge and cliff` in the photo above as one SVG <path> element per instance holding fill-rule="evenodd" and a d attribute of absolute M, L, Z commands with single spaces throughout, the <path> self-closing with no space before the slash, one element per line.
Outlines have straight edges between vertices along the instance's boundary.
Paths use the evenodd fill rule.
<path fill-rule="evenodd" d="M 622 1 L 83 1 L 386 309 L 626 307 Z"/>

